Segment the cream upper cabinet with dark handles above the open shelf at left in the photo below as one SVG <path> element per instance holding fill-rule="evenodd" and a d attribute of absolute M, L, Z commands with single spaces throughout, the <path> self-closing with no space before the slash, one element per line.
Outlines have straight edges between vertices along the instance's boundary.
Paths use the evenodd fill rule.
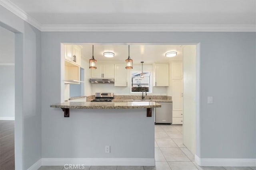
<path fill-rule="evenodd" d="M 78 45 L 65 45 L 65 59 L 80 66 L 81 48 Z"/>

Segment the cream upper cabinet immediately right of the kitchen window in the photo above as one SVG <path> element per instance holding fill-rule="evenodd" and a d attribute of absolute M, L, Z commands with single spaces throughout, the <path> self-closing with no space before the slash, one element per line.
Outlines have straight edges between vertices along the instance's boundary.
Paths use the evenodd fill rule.
<path fill-rule="evenodd" d="M 154 86 L 169 86 L 169 64 L 154 64 Z"/>

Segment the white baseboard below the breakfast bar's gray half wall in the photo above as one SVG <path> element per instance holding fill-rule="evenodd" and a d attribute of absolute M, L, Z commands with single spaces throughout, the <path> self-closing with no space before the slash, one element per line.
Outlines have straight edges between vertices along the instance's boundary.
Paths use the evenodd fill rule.
<path fill-rule="evenodd" d="M 42 166 L 155 166 L 154 158 L 42 158 Z"/>

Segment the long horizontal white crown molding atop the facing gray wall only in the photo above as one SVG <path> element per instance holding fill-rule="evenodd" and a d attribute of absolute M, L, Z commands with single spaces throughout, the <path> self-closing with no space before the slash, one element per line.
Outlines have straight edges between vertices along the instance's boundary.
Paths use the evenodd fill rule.
<path fill-rule="evenodd" d="M 42 25 L 42 31 L 255 32 L 256 25 Z"/>

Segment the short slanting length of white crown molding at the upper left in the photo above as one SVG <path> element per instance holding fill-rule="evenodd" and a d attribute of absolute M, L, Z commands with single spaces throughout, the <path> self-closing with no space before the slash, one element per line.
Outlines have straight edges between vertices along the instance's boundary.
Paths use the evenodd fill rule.
<path fill-rule="evenodd" d="M 0 5 L 15 14 L 16 16 L 20 17 L 22 20 L 30 23 L 32 26 L 36 27 L 37 29 L 41 30 L 42 24 L 35 20 L 32 16 L 28 15 L 25 11 L 20 9 L 14 3 L 9 0 L 0 0 Z"/>

